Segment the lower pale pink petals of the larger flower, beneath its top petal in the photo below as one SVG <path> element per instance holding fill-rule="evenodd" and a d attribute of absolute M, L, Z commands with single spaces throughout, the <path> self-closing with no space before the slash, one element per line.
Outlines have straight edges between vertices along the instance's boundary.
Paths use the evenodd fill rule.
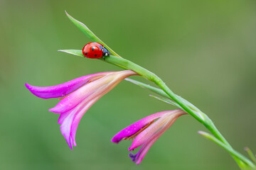
<path fill-rule="evenodd" d="M 117 86 L 122 79 L 129 76 L 131 72 L 122 71 L 121 73 L 122 74 L 117 75 L 112 74 L 82 86 L 69 96 L 63 98 L 62 101 L 64 102 L 60 101 L 57 107 L 55 106 L 55 108 L 49 110 L 55 113 L 61 113 L 58 123 L 61 123 L 60 130 L 65 140 L 68 142 L 70 149 L 73 149 L 73 145 L 76 146 L 75 133 L 82 115 L 84 115 L 98 99 L 112 90 L 114 86 Z M 132 74 L 134 74 L 134 72 L 132 72 Z M 118 75 L 120 77 L 118 77 Z"/>

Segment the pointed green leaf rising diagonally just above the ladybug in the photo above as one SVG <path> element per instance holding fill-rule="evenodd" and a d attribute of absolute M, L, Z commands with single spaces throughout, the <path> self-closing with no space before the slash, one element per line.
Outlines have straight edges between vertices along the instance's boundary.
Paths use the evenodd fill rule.
<path fill-rule="evenodd" d="M 73 18 L 72 16 L 70 16 L 70 14 L 68 14 L 67 11 L 65 11 L 65 13 L 68 16 L 68 18 L 70 19 L 70 21 L 72 21 L 75 24 L 75 26 L 77 26 L 82 31 L 82 33 L 84 33 L 87 36 L 87 38 L 90 38 L 90 40 L 92 42 L 101 43 L 104 47 L 107 48 L 107 50 L 110 51 L 110 55 L 120 57 L 109 46 L 107 46 L 102 40 L 100 40 L 100 38 L 97 38 L 97 36 L 94 33 L 92 33 L 92 31 L 87 26 L 85 26 L 84 23 L 81 23 L 80 21 L 78 21 L 75 18 Z"/>

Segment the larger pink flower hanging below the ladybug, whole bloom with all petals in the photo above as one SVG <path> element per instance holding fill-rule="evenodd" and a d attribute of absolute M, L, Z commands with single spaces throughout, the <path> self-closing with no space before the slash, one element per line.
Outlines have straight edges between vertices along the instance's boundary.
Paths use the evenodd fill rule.
<path fill-rule="evenodd" d="M 56 86 L 31 86 L 25 84 L 32 94 L 40 98 L 59 98 L 61 101 L 49 111 L 60 113 L 60 131 L 73 150 L 76 147 L 75 132 L 82 115 L 102 96 L 112 90 L 123 79 L 137 75 L 132 70 L 100 72 L 73 79 Z"/>

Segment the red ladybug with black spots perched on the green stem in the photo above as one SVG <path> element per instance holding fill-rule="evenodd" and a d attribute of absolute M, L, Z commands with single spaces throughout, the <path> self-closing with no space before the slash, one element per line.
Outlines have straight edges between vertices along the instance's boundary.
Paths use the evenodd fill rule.
<path fill-rule="evenodd" d="M 110 56 L 109 50 L 98 42 L 90 42 L 82 48 L 82 54 L 87 58 L 98 59 L 100 57 Z"/>

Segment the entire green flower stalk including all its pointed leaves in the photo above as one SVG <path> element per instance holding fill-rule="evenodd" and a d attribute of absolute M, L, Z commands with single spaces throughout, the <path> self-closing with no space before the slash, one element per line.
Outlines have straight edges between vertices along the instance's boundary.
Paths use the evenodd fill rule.
<path fill-rule="evenodd" d="M 82 30 L 82 32 L 85 33 L 85 35 L 87 35 L 88 38 L 90 38 L 95 42 L 100 42 L 103 45 L 105 45 L 105 43 L 102 42 L 102 40 L 97 38 L 97 36 L 93 34 L 92 31 L 89 30 L 89 28 L 87 28 L 87 26 L 85 26 L 83 23 L 80 23 L 80 21 L 75 20 L 75 18 L 70 16 L 68 13 L 67 15 L 68 15 L 68 18 L 70 18 L 70 20 L 75 24 L 75 26 L 77 26 L 80 30 Z M 250 159 L 247 159 L 244 156 L 240 156 L 241 154 L 236 152 L 233 149 L 233 147 L 231 147 L 228 141 L 225 140 L 225 137 L 223 137 L 223 135 L 221 135 L 219 130 L 215 127 L 215 125 L 213 124 L 213 121 L 210 120 L 210 118 L 208 118 L 208 115 L 200 111 L 198 108 L 196 108 L 196 106 L 193 106 L 192 103 L 174 94 L 174 92 L 171 91 L 171 89 L 169 89 L 169 87 L 166 86 L 164 81 L 160 79 L 158 76 L 156 76 L 156 74 L 149 72 L 149 70 L 144 69 L 143 67 L 139 66 L 138 64 L 135 64 L 134 62 L 131 62 L 129 60 L 126 60 L 120 57 L 119 55 L 117 55 L 117 53 L 111 50 L 110 47 L 108 47 L 107 45 L 105 45 L 105 47 L 107 47 L 107 49 L 110 50 L 111 55 L 109 57 L 105 57 L 105 60 L 103 59 L 99 59 L 99 60 L 117 65 L 118 67 L 122 67 L 123 69 L 132 69 L 134 72 L 137 72 L 137 74 L 139 74 L 140 76 L 148 79 L 149 81 L 153 81 L 157 86 L 160 87 L 160 89 L 151 87 L 146 84 L 142 84 L 139 81 L 134 81 L 136 83 L 134 82 L 133 83 L 139 86 L 143 86 L 146 89 L 149 89 L 151 91 L 156 92 L 157 94 L 160 94 L 161 96 L 171 99 L 176 103 L 176 106 L 178 106 L 178 108 L 181 108 L 186 113 L 192 115 L 193 118 L 196 118 L 196 120 L 202 123 L 213 134 L 213 136 L 206 135 L 205 133 L 201 133 L 201 135 L 204 135 L 205 137 L 207 136 L 210 140 L 213 140 L 215 143 L 217 143 L 221 147 L 228 150 L 231 156 L 235 159 L 235 162 L 237 162 L 238 166 L 240 166 L 240 169 L 256 169 L 255 164 L 253 164 L 250 161 Z M 81 50 L 60 50 L 60 51 L 67 52 L 73 55 L 78 55 L 80 57 L 84 57 L 82 55 Z"/>

